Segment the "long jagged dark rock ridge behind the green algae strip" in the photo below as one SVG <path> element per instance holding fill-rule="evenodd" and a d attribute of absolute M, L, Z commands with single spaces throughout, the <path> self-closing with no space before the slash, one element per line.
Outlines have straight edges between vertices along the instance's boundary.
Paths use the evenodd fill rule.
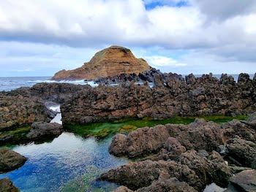
<path fill-rule="evenodd" d="M 170 75 L 165 82 L 157 75 L 154 88 L 133 83 L 99 86 L 79 91 L 61 106 L 64 124 L 92 123 L 122 118 L 241 115 L 256 110 L 256 82 L 240 75 L 211 75 L 181 80 Z"/>

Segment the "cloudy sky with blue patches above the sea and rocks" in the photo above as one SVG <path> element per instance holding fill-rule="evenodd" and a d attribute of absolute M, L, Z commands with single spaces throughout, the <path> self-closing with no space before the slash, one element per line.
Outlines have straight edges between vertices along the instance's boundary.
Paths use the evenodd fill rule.
<path fill-rule="evenodd" d="M 0 1 L 0 77 L 52 76 L 110 45 L 162 72 L 254 74 L 256 1 Z"/>

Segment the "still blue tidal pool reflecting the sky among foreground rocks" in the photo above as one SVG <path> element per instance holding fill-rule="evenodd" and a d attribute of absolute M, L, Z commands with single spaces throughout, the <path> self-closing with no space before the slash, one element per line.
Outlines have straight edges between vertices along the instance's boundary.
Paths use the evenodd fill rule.
<path fill-rule="evenodd" d="M 20 191 L 111 191 L 116 184 L 97 181 L 102 172 L 127 164 L 108 153 L 111 138 L 98 141 L 63 133 L 52 142 L 19 145 L 12 150 L 28 158 L 9 177 Z"/>

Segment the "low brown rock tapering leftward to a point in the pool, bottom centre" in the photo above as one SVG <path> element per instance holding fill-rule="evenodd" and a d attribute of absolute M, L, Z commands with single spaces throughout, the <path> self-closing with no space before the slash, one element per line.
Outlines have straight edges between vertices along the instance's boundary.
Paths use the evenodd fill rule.
<path fill-rule="evenodd" d="M 139 161 L 111 169 L 101 175 L 102 180 L 125 185 L 132 190 L 148 187 L 153 181 L 165 175 L 176 177 L 181 182 L 186 182 L 195 189 L 202 189 L 203 183 L 192 169 L 174 161 Z"/>

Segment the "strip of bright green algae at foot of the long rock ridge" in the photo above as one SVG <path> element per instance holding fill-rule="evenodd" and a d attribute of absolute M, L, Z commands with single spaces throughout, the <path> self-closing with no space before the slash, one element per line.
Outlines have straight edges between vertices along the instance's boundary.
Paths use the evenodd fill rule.
<path fill-rule="evenodd" d="M 131 120 L 116 120 L 108 123 L 89 123 L 87 125 L 65 125 L 68 131 L 72 131 L 83 137 L 97 137 L 102 139 L 108 136 L 112 136 L 116 133 L 128 133 L 134 131 L 137 128 L 149 126 L 154 127 L 157 125 L 165 125 L 167 123 L 172 124 L 189 124 L 194 122 L 195 118 L 204 118 L 207 121 L 214 121 L 215 123 L 225 123 L 233 119 L 246 120 L 247 115 L 239 115 L 236 117 L 225 115 L 206 115 L 200 117 L 175 117 L 169 119 L 154 120 L 152 118 L 143 119 L 131 119 Z"/>

